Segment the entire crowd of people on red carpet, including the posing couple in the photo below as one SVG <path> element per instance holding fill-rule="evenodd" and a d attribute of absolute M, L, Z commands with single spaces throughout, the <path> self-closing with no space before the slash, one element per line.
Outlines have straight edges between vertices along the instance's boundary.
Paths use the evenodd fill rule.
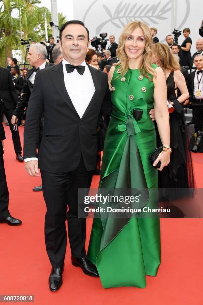
<path fill-rule="evenodd" d="M 145 275 L 157 274 L 157 218 L 111 219 L 105 225 L 95 218 L 86 255 L 78 189 L 89 188 L 93 174 L 101 174 L 101 189 L 195 187 L 184 107 L 193 108 L 189 123 L 194 123 L 195 143 L 203 128 L 203 38 L 191 55 L 190 29 L 183 29 L 183 35 L 182 45 L 171 34 L 162 44 L 156 28 L 134 21 L 118 44 L 110 35 L 110 45 L 98 53 L 89 47 L 88 29 L 73 20 L 61 27 L 60 43 L 50 37 L 49 46 L 46 41 L 30 44 L 31 69 L 20 69 L 12 57 L 7 57 L 7 69 L 0 67 L 0 118 L 7 118 L 16 159 L 25 162 L 31 176 L 40 175 L 39 161 L 42 185 L 33 190 L 43 191 L 47 206 L 51 291 L 62 285 L 66 219 L 72 264 L 100 276 L 103 287 L 145 287 Z M 25 126 L 23 156 L 18 126 Z M 2 119 L 0 138 L 0 222 L 20 225 L 8 209 Z M 149 156 L 156 147 L 162 151 L 151 166 Z M 170 192 L 170 199 L 175 198 Z M 153 204 L 157 198 L 150 200 Z"/>

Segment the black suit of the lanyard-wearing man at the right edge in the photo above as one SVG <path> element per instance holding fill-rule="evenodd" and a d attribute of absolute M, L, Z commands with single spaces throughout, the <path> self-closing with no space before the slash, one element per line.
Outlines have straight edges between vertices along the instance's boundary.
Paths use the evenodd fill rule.
<path fill-rule="evenodd" d="M 194 95 L 193 95 L 193 90 L 194 90 L 194 79 L 195 79 L 195 73 L 196 71 L 193 71 L 190 73 L 190 86 L 189 86 L 189 93 L 190 97 L 193 98 L 193 101 L 198 102 L 198 99 L 196 100 Z M 201 74 L 199 74 L 201 75 Z M 202 83 L 203 83 L 203 78 L 202 78 Z M 203 101 L 201 102 L 203 103 Z M 195 128 L 195 133 L 198 130 L 202 131 L 203 128 L 203 106 L 194 106 L 193 108 L 193 120 L 194 120 L 194 128 Z"/>

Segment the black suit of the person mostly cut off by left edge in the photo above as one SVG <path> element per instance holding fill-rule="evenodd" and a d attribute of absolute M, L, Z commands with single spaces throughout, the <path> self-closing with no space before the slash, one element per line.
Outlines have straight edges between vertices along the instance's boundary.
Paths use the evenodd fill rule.
<path fill-rule="evenodd" d="M 3 161 L 3 146 L 2 141 L 5 139 L 5 132 L 1 122 L 2 114 L 0 112 L 0 220 L 10 216 L 8 211 L 9 193 L 6 183 L 5 168 Z"/>

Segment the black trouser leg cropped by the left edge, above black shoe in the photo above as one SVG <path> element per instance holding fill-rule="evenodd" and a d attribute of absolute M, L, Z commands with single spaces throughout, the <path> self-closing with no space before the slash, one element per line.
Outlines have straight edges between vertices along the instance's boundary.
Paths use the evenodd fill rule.
<path fill-rule="evenodd" d="M 0 220 L 10 216 L 8 211 L 9 193 L 5 176 L 3 156 L 0 156 Z"/>

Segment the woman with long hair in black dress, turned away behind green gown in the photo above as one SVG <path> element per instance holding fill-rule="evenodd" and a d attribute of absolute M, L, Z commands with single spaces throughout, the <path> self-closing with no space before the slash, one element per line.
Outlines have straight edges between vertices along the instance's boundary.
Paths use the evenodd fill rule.
<path fill-rule="evenodd" d="M 172 154 L 169 165 L 159 171 L 159 188 L 173 188 L 170 199 L 180 197 L 180 190 L 194 188 L 191 154 L 187 147 L 187 135 L 184 122 L 183 103 L 189 97 L 185 78 L 180 71 L 180 65 L 174 58 L 168 46 L 161 43 L 153 45 L 154 61 L 165 74 L 167 98 L 174 107 L 170 114 L 170 147 Z M 177 90 L 181 95 L 177 97 Z M 157 137 L 157 145 L 161 142 Z M 178 196 L 177 196 L 178 195 Z"/>

